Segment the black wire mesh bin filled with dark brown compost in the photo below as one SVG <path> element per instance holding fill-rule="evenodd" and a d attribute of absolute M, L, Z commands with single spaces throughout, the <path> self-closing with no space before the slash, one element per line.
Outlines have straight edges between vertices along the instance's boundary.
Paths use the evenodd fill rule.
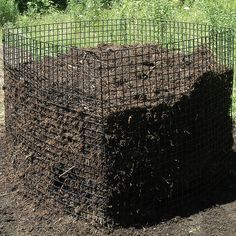
<path fill-rule="evenodd" d="M 224 177 L 233 30 L 120 19 L 3 33 L 7 140 L 29 195 L 102 225 L 149 222 Z"/>

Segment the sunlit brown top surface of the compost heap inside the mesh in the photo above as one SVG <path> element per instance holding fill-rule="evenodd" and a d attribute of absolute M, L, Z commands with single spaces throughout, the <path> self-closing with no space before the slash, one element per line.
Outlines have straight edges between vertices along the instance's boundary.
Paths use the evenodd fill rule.
<path fill-rule="evenodd" d="M 40 89 L 38 97 L 70 107 L 83 103 L 85 110 L 99 115 L 101 102 L 103 115 L 132 107 L 173 105 L 189 96 L 204 73 L 227 71 L 204 45 L 182 53 L 151 44 L 73 48 L 17 68 L 14 73 L 22 83 Z"/>

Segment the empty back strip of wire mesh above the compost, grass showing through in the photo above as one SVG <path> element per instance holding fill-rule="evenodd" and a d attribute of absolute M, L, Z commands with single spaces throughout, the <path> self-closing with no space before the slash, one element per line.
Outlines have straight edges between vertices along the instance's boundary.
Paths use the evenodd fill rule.
<path fill-rule="evenodd" d="M 87 25 L 88 24 L 88 25 Z M 117 26 L 120 25 L 121 28 L 117 28 Z M 79 38 L 67 38 L 67 34 L 71 33 L 70 30 L 76 30 L 78 26 L 78 29 L 82 29 L 80 32 Z M 88 26 L 88 27 L 87 27 Z M 91 26 L 91 28 L 90 28 Z M 100 29 L 93 30 L 93 27 L 105 27 Z M 117 34 L 118 38 L 113 39 L 111 36 L 111 39 L 108 39 L 104 36 L 106 32 L 112 31 L 109 27 L 116 27 L 116 30 L 121 30 L 123 32 L 122 34 Z M 127 26 L 127 27 L 123 27 Z M 138 32 L 135 31 L 135 35 L 133 35 L 133 32 L 131 33 L 131 39 L 127 39 L 126 30 L 131 27 L 139 28 L 141 27 Z M 157 26 L 157 31 L 155 31 L 155 26 Z M 163 27 L 162 27 L 163 26 Z M 107 28 L 108 27 L 108 28 Z M 123 27 L 123 28 L 122 28 Z M 142 28 L 144 27 L 144 29 Z M 148 31 L 147 27 L 151 27 L 152 30 L 154 29 L 154 35 L 152 33 L 152 38 L 150 35 L 145 36 L 145 32 Z M 85 31 L 83 28 L 88 30 L 86 36 Z M 162 31 L 162 29 L 164 29 Z M 130 42 L 132 44 L 136 43 L 158 43 L 159 45 L 163 45 L 166 47 L 170 47 L 172 45 L 178 45 L 180 42 L 189 42 L 191 41 L 194 44 L 194 41 L 204 42 L 204 39 L 208 38 L 209 40 L 213 37 L 215 39 L 221 39 L 225 38 L 224 40 L 227 40 L 229 42 L 234 41 L 234 30 L 231 28 L 225 28 L 225 27 L 217 27 L 213 25 L 208 24 L 198 24 L 198 23 L 191 23 L 191 22 L 178 22 L 178 21 L 166 21 L 161 19 L 107 19 L 107 20 L 86 20 L 86 21 L 73 21 L 73 22 L 61 22 L 61 23 L 49 23 L 49 24 L 38 24 L 38 25 L 30 25 L 30 26 L 22 26 L 22 27 L 13 27 L 13 28 L 7 28 L 5 27 L 3 29 L 3 45 L 8 46 L 9 42 L 13 44 L 22 44 L 22 48 L 24 50 L 29 50 L 27 46 L 31 49 L 37 49 L 37 50 L 47 50 L 50 53 L 61 53 L 64 49 L 71 49 L 74 47 L 84 48 L 84 47 L 90 47 L 94 46 L 93 44 L 99 45 L 102 43 L 113 43 L 117 42 L 121 43 L 121 45 L 129 45 Z M 61 31 L 62 30 L 62 31 Z M 64 31 L 65 30 L 65 31 Z M 69 30 L 69 32 L 67 32 Z M 90 31 L 91 30 L 91 31 Z M 150 30 L 150 29 L 149 29 Z M 91 32 L 91 34 L 90 34 Z M 140 32 L 141 32 L 141 38 L 140 38 Z M 155 33 L 157 32 L 157 38 Z M 93 41 L 93 38 L 96 38 L 97 35 L 93 35 L 92 33 L 101 33 L 100 37 L 98 37 L 98 40 Z M 104 33 L 104 34 L 103 34 Z M 159 36 L 159 34 L 161 35 Z M 137 34 L 137 35 L 136 35 Z M 176 34 L 176 35 L 175 35 Z M 71 33 L 73 35 L 73 33 Z M 164 35 L 164 37 L 163 37 Z M 173 35 L 173 37 L 172 37 Z M 11 37 L 13 38 L 11 39 Z M 65 36 L 65 38 L 63 38 Z M 137 36 L 137 40 L 136 37 Z M 150 36 L 150 38 L 149 38 Z M 166 38 L 165 38 L 166 36 Z M 179 37 L 180 36 L 180 37 Z M 219 37 L 218 37 L 219 36 Z M 101 39 L 101 37 L 104 37 L 104 40 Z M 120 38 L 119 38 L 120 37 Z M 133 39 L 133 38 L 134 39 Z M 146 38 L 145 38 L 146 37 Z M 159 37 L 161 38 L 160 41 Z M 82 42 L 83 40 L 88 39 L 88 42 Z M 90 42 L 90 38 L 92 41 Z M 80 39 L 82 41 L 80 42 Z M 106 41 L 107 39 L 107 41 Z M 68 40 L 68 43 L 67 43 Z M 76 41 L 76 44 L 73 44 L 73 40 Z M 145 41 L 146 40 L 146 41 Z M 152 41 L 155 40 L 155 41 Z M 65 43 L 64 43 L 65 41 Z M 62 44 L 60 42 L 63 42 Z M 78 45 L 77 45 L 78 42 Z M 91 43 L 91 44 L 90 44 Z M 190 46 L 191 47 L 191 46 Z M 118 50 L 118 49 L 117 49 Z M 121 50 L 121 49 L 120 49 Z"/>

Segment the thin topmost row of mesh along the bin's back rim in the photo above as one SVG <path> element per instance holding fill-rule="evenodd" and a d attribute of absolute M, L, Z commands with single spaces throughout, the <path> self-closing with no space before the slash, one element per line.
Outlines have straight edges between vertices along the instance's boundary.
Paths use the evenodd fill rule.
<path fill-rule="evenodd" d="M 147 23 L 166 23 L 166 24 L 173 24 L 176 26 L 199 26 L 201 27 L 199 30 L 205 30 L 203 29 L 203 27 L 206 28 L 210 28 L 210 29 L 221 29 L 224 31 L 231 31 L 233 34 L 235 33 L 235 30 L 233 28 L 230 27 L 224 27 L 224 26 L 214 26 L 211 24 L 203 24 L 203 23 L 194 23 L 194 22 L 185 22 L 185 21 L 169 21 L 169 20 L 161 20 L 161 19 L 129 19 L 129 18 L 125 18 L 125 19 L 107 19 L 107 20 L 79 20 L 79 21 L 67 21 L 67 22 L 54 22 L 54 23 L 43 23 L 43 24 L 32 24 L 32 25 L 28 25 L 28 26 L 14 26 L 14 27 L 9 27 L 9 26 L 5 26 L 3 27 L 3 31 L 6 30 L 16 30 L 16 29 L 27 29 L 27 28 L 31 28 L 31 27 L 40 27 L 40 26 L 57 26 L 57 25 L 70 25 L 70 24 L 79 24 L 79 23 L 108 23 L 108 22 L 133 22 L 133 23 L 142 23 L 142 22 L 147 22 Z M 207 30 L 207 29 L 206 29 Z"/>

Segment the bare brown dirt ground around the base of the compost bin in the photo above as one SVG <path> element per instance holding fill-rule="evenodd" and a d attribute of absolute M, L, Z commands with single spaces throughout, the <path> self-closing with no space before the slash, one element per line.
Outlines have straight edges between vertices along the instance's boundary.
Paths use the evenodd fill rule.
<path fill-rule="evenodd" d="M 0 49 L 1 50 L 1 49 Z M 0 51 L 2 55 L 2 51 Z M 0 86 L 3 72 L 0 61 Z M 232 153 L 232 168 L 222 187 L 212 193 L 214 204 L 193 207 L 186 216 L 138 228 L 114 230 L 95 228 L 87 223 L 49 210 L 43 204 L 25 198 L 18 188 L 17 178 L 9 160 L 5 158 L 3 92 L 0 90 L 0 235 L 236 235 L 236 152 Z M 236 132 L 234 132 L 236 141 Z M 236 151 L 236 146 L 235 146 Z M 204 201 L 204 199 L 203 199 Z"/>

